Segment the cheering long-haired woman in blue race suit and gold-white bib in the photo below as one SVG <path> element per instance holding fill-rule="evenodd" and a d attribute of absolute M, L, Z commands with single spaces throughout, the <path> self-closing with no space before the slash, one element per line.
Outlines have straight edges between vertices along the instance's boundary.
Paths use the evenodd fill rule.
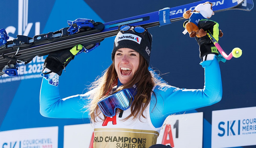
<path fill-rule="evenodd" d="M 221 100 L 222 84 L 217 56 L 200 63 L 205 68 L 204 89 L 179 89 L 161 83 L 148 70 L 151 43 L 152 36 L 146 29 L 121 26 L 114 41 L 113 63 L 104 75 L 93 83 L 91 91 L 64 99 L 59 97 L 58 87 L 49 85 L 46 79 L 52 82 L 52 78 L 58 77 L 56 73 L 61 75 L 62 69 L 58 68 L 61 66 L 52 65 L 63 64 L 62 61 L 70 56 L 66 54 L 69 51 L 49 55 L 45 61 L 46 75 L 43 75 L 46 79 L 41 85 L 40 113 L 52 118 L 91 118 L 94 147 L 121 144 L 118 146 L 148 148 L 156 144 L 167 116 Z M 81 48 L 75 46 L 75 49 L 79 51 Z M 125 89 L 129 90 L 126 95 L 111 95 L 124 94 Z M 129 95 L 134 98 L 129 98 Z M 131 105 L 128 107 L 118 102 L 129 99 Z"/>

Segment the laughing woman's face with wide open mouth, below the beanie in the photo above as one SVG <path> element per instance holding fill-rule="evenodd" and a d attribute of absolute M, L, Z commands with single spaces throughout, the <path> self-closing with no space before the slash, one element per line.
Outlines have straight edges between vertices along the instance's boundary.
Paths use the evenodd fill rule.
<path fill-rule="evenodd" d="M 120 82 L 126 84 L 139 67 L 140 54 L 130 48 L 120 48 L 115 52 L 114 61 Z"/>

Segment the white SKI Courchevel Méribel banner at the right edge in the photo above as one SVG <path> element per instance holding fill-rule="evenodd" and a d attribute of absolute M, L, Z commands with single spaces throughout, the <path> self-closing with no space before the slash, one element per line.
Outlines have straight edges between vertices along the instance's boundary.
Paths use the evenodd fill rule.
<path fill-rule="evenodd" d="M 256 107 L 212 111 L 211 147 L 256 145 Z"/>

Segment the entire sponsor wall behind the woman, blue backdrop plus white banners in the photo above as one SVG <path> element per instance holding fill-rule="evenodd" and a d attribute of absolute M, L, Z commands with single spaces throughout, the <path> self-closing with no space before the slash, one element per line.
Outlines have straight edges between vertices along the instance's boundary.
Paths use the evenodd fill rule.
<path fill-rule="evenodd" d="M 17 34 L 33 37 L 67 27 L 67 20 L 88 18 L 108 22 L 192 2 L 140 0 L 127 4 L 116 0 L 17 0 L 10 4 L 3 1 L 0 28 L 6 29 L 10 39 Z M 183 11 L 176 10 L 172 14 Z M 220 63 L 221 102 L 171 116 L 157 143 L 173 147 L 256 147 L 256 70 L 253 66 L 256 60 L 251 54 L 255 48 L 253 34 L 256 32 L 251 29 L 254 15 L 254 10 L 232 10 L 212 17 L 224 33 L 220 39 L 222 48 L 229 53 L 232 48 L 240 47 L 243 55 Z M 204 70 L 199 65 L 198 45 L 188 34 L 183 35 L 183 30 L 183 21 L 149 28 L 153 35 L 150 66 L 166 73 L 162 77 L 173 86 L 202 88 Z M 60 77 L 61 97 L 87 91 L 87 85 L 111 64 L 113 40 L 113 37 L 105 39 L 94 51 L 75 57 Z M 52 119 L 40 115 L 40 72 L 45 58 L 35 57 L 27 65 L 20 63 L 19 77 L 0 76 L 0 147 L 91 146 L 94 139 L 89 119 Z"/>

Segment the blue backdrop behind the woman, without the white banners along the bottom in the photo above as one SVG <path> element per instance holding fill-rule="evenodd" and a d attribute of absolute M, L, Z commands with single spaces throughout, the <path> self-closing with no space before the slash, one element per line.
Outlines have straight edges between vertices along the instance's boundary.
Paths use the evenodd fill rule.
<path fill-rule="evenodd" d="M 129 2 L 117 0 L 27 0 L 25 5 L 24 1 L 12 1 L 11 4 L 10 1 L 1 2 L 0 28 L 5 28 L 10 37 L 16 38 L 19 32 L 32 37 L 38 32 L 41 34 L 57 31 L 68 26 L 67 20 L 77 18 L 109 22 L 158 11 L 165 7 L 194 2 L 193 0 Z M 256 106 L 256 59 L 253 54 L 256 33 L 253 29 L 256 22 L 255 15 L 255 10 L 250 12 L 230 10 L 216 13 L 211 18 L 219 22 L 219 28 L 224 33 L 219 41 L 222 48 L 230 53 L 234 47 L 240 47 L 243 50 L 243 55 L 226 63 L 220 63 L 223 82 L 221 102 L 187 112 L 204 112 L 204 147 L 211 146 L 212 110 Z M 178 21 L 148 29 L 153 35 L 150 65 L 153 69 L 165 73 L 162 77 L 170 85 L 188 89 L 202 88 L 204 86 L 204 69 L 199 65 L 198 45 L 195 39 L 189 38 L 188 34 L 182 34 L 183 22 Z M 66 68 L 66 72 L 60 77 L 62 97 L 85 92 L 87 85 L 111 64 L 113 40 L 114 37 L 107 38 L 96 50 L 75 57 L 74 61 Z M 0 77 L 0 131 L 59 126 L 58 145 L 63 147 L 63 126 L 88 123 L 89 120 L 51 119 L 40 115 L 39 92 L 42 78 L 37 75 L 40 73 L 44 59 L 45 57 L 41 57 L 28 65 L 20 65 L 23 71 L 19 76 L 23 77 L 17 80 Z M 76 69 L 78 71 L 73 72 Z M 62 79 L 63 81 L 61 81 Z"/>

